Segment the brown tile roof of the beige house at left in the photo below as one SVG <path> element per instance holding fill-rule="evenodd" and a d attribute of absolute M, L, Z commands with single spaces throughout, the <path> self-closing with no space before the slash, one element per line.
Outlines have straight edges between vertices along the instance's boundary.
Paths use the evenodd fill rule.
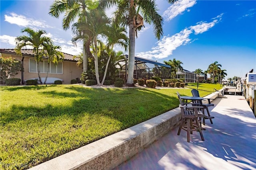
<path fill-rule="evenodd" d="M 9 53 L 9 54 L 14 53 L 16 55 L 14 49 L 1 49 L 1 53 Z M 34 57 L 33 49 L 22 49 L 21 53 L 22 53 L 22 55 Z M 77 58 L 73 59 L 74 55 L 67 54 L 67 53 L 63 53 L 63 55 L 64 55 L 64 60 L 66 60 L 66 61 L 75 61 L 75 62 L 78 61 Z M 48 58 L 48 57 L 46 57 L 46 58 Z"/>

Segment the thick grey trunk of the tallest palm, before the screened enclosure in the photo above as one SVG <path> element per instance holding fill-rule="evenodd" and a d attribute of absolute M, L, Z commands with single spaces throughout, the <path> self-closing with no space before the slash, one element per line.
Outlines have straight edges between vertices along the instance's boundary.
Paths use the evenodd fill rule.
<path fill-rule="evenodd" d="M 128 78 L 127 84 L 133 83 L 134 62 L 135 62 L 135 27 L 129 25 L 129 57 L 128 57 Z"/>

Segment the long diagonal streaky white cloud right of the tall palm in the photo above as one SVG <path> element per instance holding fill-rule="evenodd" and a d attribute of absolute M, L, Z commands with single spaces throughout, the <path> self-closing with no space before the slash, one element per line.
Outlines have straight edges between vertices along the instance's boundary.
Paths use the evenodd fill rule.
<path fill-rule="evenodd" d="M 164 36 L 161 41 L 157 42 L 157 46 L 152 48 L 152 51 L 141 52 L 136 55 L 146 59 L 164 59 L 169 55 L 172 55 L 172 51 L 181 45 L 186 45 L 195 41 L 196 39 L 190 39 L 190 34 L 194 32 L 195 35 L 198 35 L 208 31 L 222 19 L 222 15 L 223 14 L 220 14 L 216 18 L 212 18 L 214 20 L 210 23 L 200 21 L 197 25 L 185 28 L 172 36 Z"/>

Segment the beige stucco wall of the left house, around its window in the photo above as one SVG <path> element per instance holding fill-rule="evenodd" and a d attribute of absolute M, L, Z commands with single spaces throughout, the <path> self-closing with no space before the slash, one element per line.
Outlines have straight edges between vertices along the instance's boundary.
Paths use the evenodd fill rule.
<path fill-rule="evenodd" d="M 22 60 L 22 56 L 18 55 L 11 55 L 11 54 L 4 54 L 2 53 L 2 57 L 12 57 L 14 59 L 17 59 L 19 61 Z M 24 81 L 30 79 L 30 78 L 38 78 L 38 73 L 29 72 L 29 59 L 34 59 L 34 57 L 27 57 L 24 56 L 23 60 L 23 66 L 24 66 Z M 70 84 L 70 81 L 72 79 L 80 78 L 82 74 L 82 68 L 79 68 L 76 65 L 76 62 L 71 61 L 63 61 L 63 73 L 62 74 L 53 74 L 48 73 L 48 78 L 60 78 L 63 80 L 63 84 Z M 41 73 L 41 77 L 46 77 L 46 73 Z M 17 74 L 13 78 L 20 78 L 21 79 L 21 72 Z"/>

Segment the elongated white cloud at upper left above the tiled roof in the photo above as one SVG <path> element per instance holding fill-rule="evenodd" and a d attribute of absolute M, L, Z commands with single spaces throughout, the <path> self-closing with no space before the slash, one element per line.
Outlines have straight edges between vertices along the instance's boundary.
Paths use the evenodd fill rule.
<path fill-rule="evenodd" d="M 4 15 L 5 20 L 9 23 L 16 24 L 22 27 L 41 27 L 41 28 L 53 28 L 52 26 L 46 24 L 46 21 L 35 20 L 32 18 L 27 18 L 26 16 L 11 13 L 10 15 Z"/>

